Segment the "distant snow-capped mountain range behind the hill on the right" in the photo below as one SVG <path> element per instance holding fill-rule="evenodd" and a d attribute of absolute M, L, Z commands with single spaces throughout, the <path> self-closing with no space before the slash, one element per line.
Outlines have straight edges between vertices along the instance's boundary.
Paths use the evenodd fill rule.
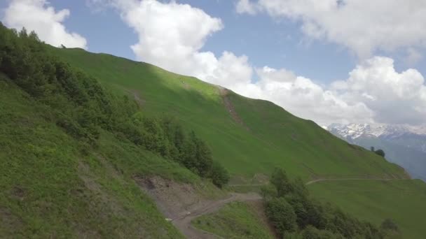
<path fill-rule="evenodd" d="M 426 127 L 331 124 L 327 130 L 349 143 L 385 150 L 386 159 L 426 181 Z"/>

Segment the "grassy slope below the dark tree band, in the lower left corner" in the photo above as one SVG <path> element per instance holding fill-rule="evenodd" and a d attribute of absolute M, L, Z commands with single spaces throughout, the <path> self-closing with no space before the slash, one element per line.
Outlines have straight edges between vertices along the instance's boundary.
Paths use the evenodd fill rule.
<path fill-rule="evenodd" d="M 181 238 L 132 175 L 199 178 L 105 132 L 83 156 L 46 108 L 0 78 L 0 238 Z"/>

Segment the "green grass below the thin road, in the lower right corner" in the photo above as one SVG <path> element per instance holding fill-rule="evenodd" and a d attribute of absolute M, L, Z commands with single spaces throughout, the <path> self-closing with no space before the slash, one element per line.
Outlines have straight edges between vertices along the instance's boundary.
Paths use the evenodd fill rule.
<path fill-rule="evenodd" d="M 426 184 L 420 180 L 328 181 L 308 186 L 315 198 L 380 225 L 394 220 L 403 238 L 425 238 Z"/>

